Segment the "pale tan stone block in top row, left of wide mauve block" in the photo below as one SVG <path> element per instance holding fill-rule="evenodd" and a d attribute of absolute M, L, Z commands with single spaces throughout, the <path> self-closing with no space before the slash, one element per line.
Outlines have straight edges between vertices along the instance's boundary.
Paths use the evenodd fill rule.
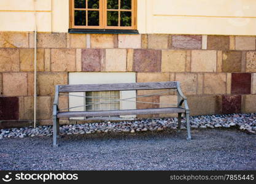
<path fill-rule="evenodd" d="M 148 48 L 152 49 L 167 49 L 168 48 L 168 34 L 149 34 Z"/>

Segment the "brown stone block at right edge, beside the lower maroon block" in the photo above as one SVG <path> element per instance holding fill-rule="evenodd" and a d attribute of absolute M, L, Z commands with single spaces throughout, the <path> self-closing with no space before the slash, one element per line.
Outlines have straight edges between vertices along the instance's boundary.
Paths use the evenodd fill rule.
<path fill-rule="evenodd" d="M 256 95 L 249 94 L 242 96 L 242 113 L 256 112 Z"/>

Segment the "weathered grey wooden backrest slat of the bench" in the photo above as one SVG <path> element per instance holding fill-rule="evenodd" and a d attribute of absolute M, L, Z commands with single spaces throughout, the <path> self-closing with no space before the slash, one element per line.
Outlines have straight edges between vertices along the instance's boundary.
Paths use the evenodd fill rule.
<path fill-rule="evenodd" d="M 128 91 L 128 90 L 159 90 L 177 88 L 176 82 L 145 82 L 145 83 L 104 83 L 88 85 L 60 85 L 60 92 L 85 91 Z"/>

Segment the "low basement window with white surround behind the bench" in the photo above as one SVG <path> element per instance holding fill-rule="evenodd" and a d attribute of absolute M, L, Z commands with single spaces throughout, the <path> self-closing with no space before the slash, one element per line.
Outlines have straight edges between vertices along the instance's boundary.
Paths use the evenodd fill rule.
<path fill-rule="evenodd" d="M 69 84 L 93 84 L 93 83 L 135 83 L 134 72 L 69 72 Z M 136 109 L 136 91 L 93 91 L 69 93 L 70 111 L 90 110 L 123 110 Z M 118 99 L 130 99 L 130 101 L 118 101 Z M 115 101 L 115 102 L 114 102 Z M 93 104 L 93 105 L 90 105 Z M 74 107 L 74 108 L 73 108 Z M 134 118 L 134 115 L 120 116 L 120 118 Z M 85 120 L 84 117 L 71 118 Z"/>

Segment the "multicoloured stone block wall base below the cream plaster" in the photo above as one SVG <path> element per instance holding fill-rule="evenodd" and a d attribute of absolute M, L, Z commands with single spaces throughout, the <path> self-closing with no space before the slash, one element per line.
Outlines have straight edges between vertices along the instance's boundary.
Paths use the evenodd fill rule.
<path fill-rule="evenodd" d="M 34 33 L 0 32 L 0 126 L 33 120 L 33 40 Z M 68 72 L 136 72 L 137 82 L 180 81 L 192 115 L 256 112 L 252 36 L 39 33 L 37 47 L 37 118 L 42 125 L 52 123 L 54 85 L 68 84 Z M 170 93 L 143 100 L 176 98 Z M 68 98 L 61 97 L 60 105 L 68 107 Z"/>

